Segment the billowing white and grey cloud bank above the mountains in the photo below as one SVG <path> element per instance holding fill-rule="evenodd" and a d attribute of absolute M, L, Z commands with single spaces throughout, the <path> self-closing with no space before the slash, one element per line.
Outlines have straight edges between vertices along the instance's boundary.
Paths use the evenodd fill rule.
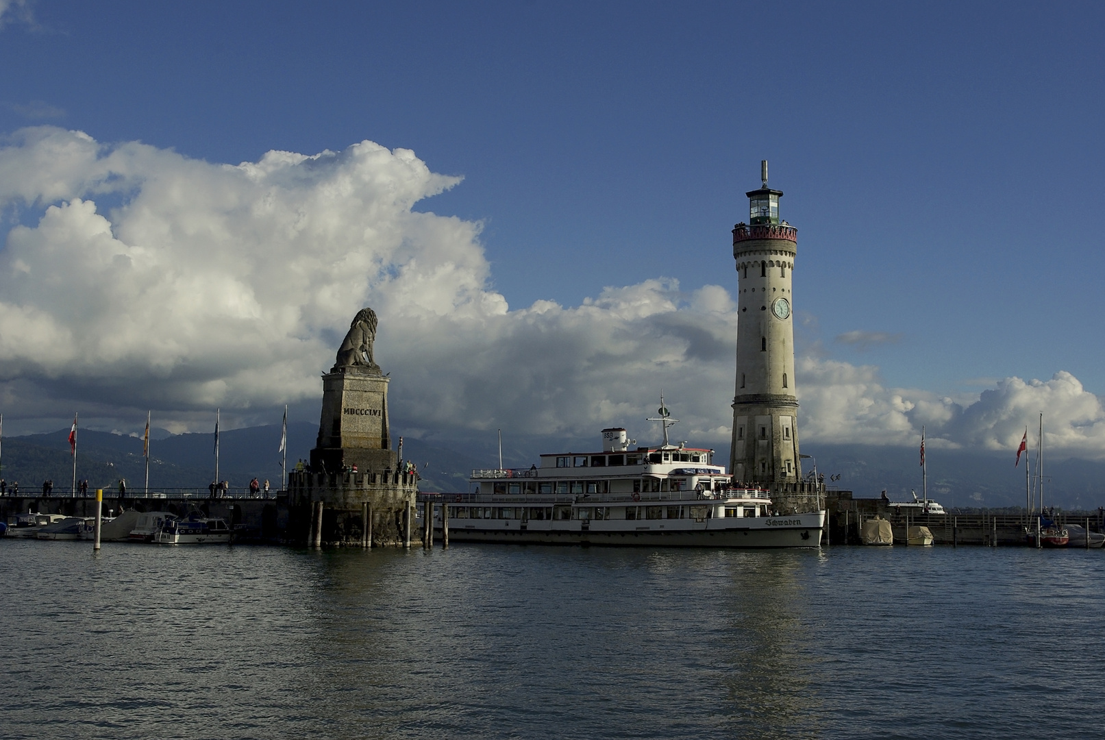
<path fill-rule="evenodd" d="M 320 372 L 372 306 L 407 433 L 615 424 L 643 442 L 663 390 L 681 438 L 724 442 L 737 331 L 724 287 L 657 276 L 512 309 L 490 287 L 481 224 L 414 210 L 459 182 L 371 141 L 231 166 L 17 131 L 0 148 L 0 405 L 77 406 L 108 429 L 148 408 L 175 431 L 206 430 L 214 406 L 272 423 L 284 403 L 317 410 Z M 964 401 L 806 357 L 798 385 L 804 442 L 908 445 L 924 424 L 932 444 L 999 450 L 1045 409 L 1053 450 L 1105 450 L 1101 402 L 1065 372 Z"/>

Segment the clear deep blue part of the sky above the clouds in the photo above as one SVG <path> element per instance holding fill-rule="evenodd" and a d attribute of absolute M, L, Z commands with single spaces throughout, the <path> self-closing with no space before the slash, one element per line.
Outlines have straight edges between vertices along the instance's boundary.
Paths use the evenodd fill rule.
<path fill-rule="evenodd" d="M 214 165 L 365 139 L 413 150 L 463 177 L 413 210 L 482 224 L 483 287 L 512 310 L 659 278 L 677 281 L 674 299 L 735 290 L 729 230 L 768 159 L 799 229 L 801 353 L 965 409 L 1002 379 L 1060 371 L 1096 397 L 1103 14 L 8 2 L 0 133 L 56 126 Z M 10 200 L 0 229 L 51 202 Z"/>

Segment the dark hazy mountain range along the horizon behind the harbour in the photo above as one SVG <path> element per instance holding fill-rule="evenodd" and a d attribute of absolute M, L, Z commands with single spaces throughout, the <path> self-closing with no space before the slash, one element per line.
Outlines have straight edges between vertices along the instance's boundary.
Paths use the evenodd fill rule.
<path fill-rule="evenodd" d="M 306 459 L 315 445 L 318 426 L 308 422 L 288 424 L 287 465 Z M 45 479 L 55 493 L 72 486 L 73 458 L 69 431 L 3 440 L 0 477 L 20 489 L 41 489 Z M 214 438 L 210 433 L 151 434 L 150 488 L 206 488 L 214 479 Z M 256 476 L 280 487 L 281 427 L 253 426 L 220 433 L 219 477 L 233 487 L 244 487 Z M 398 443 L 398 438 L 396 440 Z M 507 467 L 529 467 L 541 453 L 591 452 L 599 440 L 552 435 L 511 435 L 503 441 Z M 716 462 L 725 463 L 727 445 L 717 443 Z M 877 497 L 886 490 L 892 500 L 909 500 L 911 490 L 922 495 L 922 471 L 917 451 L 874 445 L 807 444 L 803 469 L 825 476 L 830 487 L 852 490 L 856 497 Z M 494 433 L 476 432 L 464 438 L 406 438 L 403 457 L 413 461 L 422 477 L 422 490 L 466 490 L 473 468 L 498 466 L 498 441 Z M 1034 455 L 1031 455 L 1034 457 Z M 1004 508 L 1024 505 L 1024 464 L 1013 466 L 1011 453 L 928 451 L 928 495 L 945 507 Z M 1034 463 L 1033 463 L 1034 465 Z M 1045 504 L 1067 509 L 1105 506 L 1105 463 L 1078 458 L 1046 459 Z M 830 480 L 839 475 L 839 480 Z M 145 485 L 145 459 L 140 437 L 81 430 L 77 478 L 90 487 L 115 489 L 119 478 L 130 490 Z"/>

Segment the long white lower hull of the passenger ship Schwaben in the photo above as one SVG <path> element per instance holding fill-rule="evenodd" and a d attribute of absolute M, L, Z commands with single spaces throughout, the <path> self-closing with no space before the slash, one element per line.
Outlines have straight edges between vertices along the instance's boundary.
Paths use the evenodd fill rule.
<path fill-rule="evenodd" d="M 449 522 L 450 542 L 546 545 L 606 545 L 711 548 L 815 548 L 821 545 L 824 512 L 787 517 L 707 519 L 704 522 L 653 521 L 528 521 L 512 519 Z M 435 531 L 441 535 L 441 525 Z"/>

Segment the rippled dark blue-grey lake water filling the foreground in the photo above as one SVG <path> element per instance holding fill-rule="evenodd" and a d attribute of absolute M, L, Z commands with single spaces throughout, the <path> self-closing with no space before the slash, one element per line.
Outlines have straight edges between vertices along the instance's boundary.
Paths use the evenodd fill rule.
<path fill-rule="evenodd" d="M 3 738 L 1071 738 L 1105 553 L 0 541 Z"/>

